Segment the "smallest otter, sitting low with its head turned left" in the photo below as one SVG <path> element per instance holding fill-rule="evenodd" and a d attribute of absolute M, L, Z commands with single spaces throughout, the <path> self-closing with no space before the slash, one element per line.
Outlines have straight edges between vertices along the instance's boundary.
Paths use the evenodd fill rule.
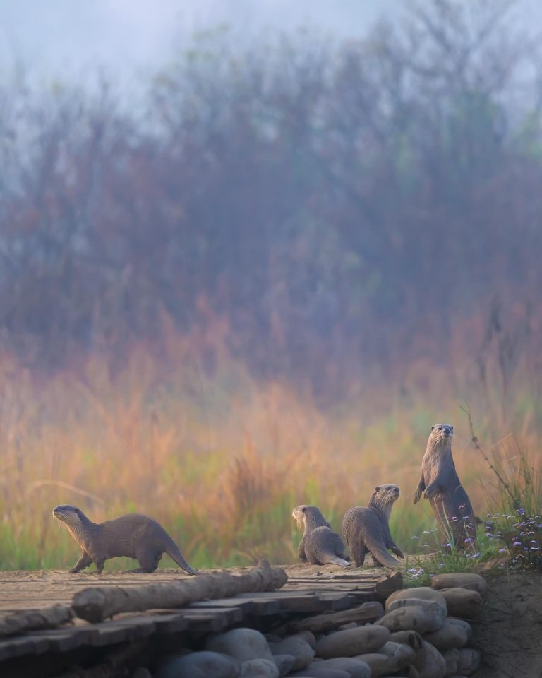
<path fill-rule="evenodd" d="M 297 526 L 303 525 L 303 539 L 299 542 L 298 555 L 301 560 L 308 560 L 313 565 L 349 566 L 344 559 L 344 544 L 341 537 L 333 532 L 318 506 L 296 506 L 291 515 Z"/>

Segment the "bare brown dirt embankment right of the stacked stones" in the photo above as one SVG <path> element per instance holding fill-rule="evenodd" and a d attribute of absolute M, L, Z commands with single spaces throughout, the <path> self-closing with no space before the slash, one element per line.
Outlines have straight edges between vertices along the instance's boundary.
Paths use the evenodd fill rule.
<path fill-rule="evenodd" d="M 541 678 L 542 575 L 488 577 L 483 614 L 473 622 L 473 645 L 483 665 L 476 678 Z"/>

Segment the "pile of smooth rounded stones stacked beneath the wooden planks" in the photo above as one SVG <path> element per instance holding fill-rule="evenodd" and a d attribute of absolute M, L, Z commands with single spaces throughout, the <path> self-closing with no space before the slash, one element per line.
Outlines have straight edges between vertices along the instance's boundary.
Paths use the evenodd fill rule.
<path fill-rule="evenodd" d="M 481 576 L 443 574 L 430 588 L 392 593 L 373 624 L 284 638 L 233 629 L 209 636 L 203 651 L 165 658 L 157 678 L 468 677 L 480 656 L 467 646 L 466 619 L 480 612 L 485 591 Z"/>

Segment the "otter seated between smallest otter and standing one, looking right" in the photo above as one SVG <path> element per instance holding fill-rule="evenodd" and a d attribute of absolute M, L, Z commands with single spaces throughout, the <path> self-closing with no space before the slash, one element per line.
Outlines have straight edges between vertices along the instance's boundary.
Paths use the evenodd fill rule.
<path fill-rule="evenodd" d="M 400 558 L 404 557 L 390 533 L 390 513 L 398 498 L 397 485 L 378 485 L 367 507 L 354 506 L 344 513 L 342 533 L 356 567 L 363 565 L 368 551 L 376 562 L 386 567 L 399 565 L 399 561 L 390 555 L 387 549 L 392 550 Z"/>

